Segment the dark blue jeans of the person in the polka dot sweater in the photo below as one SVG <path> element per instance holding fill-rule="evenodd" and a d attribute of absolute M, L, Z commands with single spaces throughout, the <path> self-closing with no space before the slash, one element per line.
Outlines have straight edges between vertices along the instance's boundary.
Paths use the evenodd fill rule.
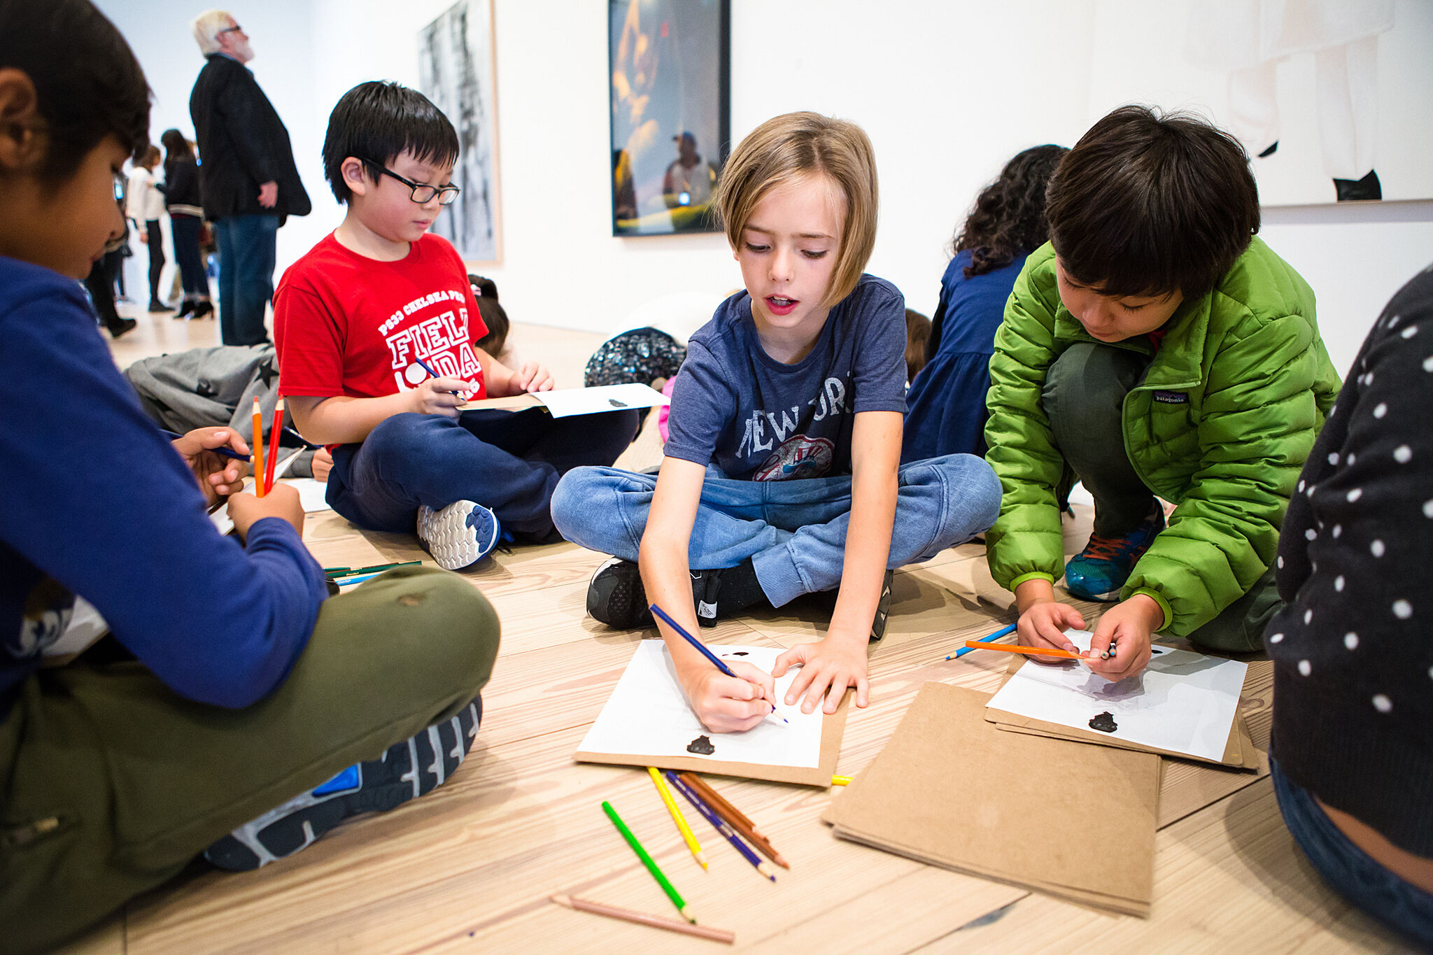
<path fill-rule="evenodd" d="M 1419 948 L 1433 952 L 1433 895 L 1370 859 L 1328 819 L 1313 793 L 1285 776 L 1277 762 L 1270 759 L 1268 769 L 1284 825 L 1324 882 Z"/>

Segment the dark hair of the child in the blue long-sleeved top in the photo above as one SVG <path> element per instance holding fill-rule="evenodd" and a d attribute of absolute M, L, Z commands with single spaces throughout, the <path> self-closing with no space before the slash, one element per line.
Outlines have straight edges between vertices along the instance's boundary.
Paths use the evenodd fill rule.
<path fill-rule="evenodd" d="M 0 0 L 0 67 L 34 83 L 50 182 L 69 179 L 102 139 L 149 145 L 149 83 L 115 24 L 89 0 Z"/>

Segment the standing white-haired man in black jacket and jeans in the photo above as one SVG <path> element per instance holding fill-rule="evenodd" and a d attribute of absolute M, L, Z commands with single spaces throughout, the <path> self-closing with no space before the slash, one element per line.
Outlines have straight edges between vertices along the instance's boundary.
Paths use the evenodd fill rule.
<path fill-rule="evenodd" d="M 208 60 L 189 96 L 199 137 L 203 215 L 219 245 L 219 329 L 225 345 L 268 341 L 275 233 L 311 205 L 294 165 L 288 129 L 245 63 L 249 37 L 224 10 L 201 13 L 193 37 Z"/>

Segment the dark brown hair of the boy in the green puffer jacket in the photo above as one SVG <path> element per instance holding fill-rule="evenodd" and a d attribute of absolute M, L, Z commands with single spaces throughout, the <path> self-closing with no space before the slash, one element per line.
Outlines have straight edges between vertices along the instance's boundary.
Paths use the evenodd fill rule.
<path fill-rule="evenodd" d="M 1050 179 L 1045 215 L 1065 272 L 1103 295 L 1204 295 L 1258 232 L 1238 140 L 1207 120 L 1121 106 Z"/>

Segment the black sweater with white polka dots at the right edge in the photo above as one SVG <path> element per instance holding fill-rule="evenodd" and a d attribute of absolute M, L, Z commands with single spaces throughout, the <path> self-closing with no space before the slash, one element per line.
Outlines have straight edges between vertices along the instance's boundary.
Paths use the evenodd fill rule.
<path fill-rule="evenodd" d="M 1278 544 L 1280 766 L 1433 858 L 1433 266 L 1374 324 Z"/>

